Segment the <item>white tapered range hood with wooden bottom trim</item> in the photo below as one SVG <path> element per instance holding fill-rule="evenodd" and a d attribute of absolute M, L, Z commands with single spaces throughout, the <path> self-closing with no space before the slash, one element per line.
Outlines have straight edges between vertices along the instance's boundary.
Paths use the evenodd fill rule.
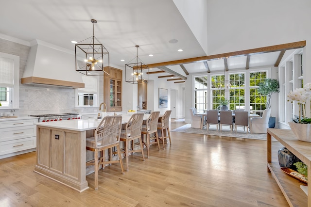
<path fill-rule="evenodd" d="M 21 83 L 84 88 L 74 52 L 40 40 L 32 42 Z"/>

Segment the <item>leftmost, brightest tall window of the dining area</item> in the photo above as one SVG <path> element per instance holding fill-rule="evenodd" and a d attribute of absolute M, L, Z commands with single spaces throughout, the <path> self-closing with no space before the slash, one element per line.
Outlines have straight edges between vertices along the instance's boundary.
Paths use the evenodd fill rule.
<path fill-rule="evenodd" d="M 194 108 L 198 113 L 207 110 L 207 76 L 194 78 Z"/>

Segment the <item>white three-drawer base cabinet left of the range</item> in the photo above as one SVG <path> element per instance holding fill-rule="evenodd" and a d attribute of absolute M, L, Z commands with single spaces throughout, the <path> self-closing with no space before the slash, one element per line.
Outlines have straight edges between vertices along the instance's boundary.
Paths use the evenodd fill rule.
<path fill-rule="evenodd" d="M 0 121 L 0 159 L 35 151 L 37 118 Z"/>

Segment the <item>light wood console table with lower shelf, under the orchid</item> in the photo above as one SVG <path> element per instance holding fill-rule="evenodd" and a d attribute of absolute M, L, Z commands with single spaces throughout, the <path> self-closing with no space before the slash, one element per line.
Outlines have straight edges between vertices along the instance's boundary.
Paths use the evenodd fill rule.
<path fill-rule="evenodd" d="M 291 207 L 311 207 L 311 185 L 308 185 L 307 196 L 300 189 L 300 185 L 303 185 L 302 182 L 282 172 L 277 160 L 277 150 L 272 146 L 271 137 L 274 137 L 308 166 L 309 179 L 311 179 L 311 143 L 297 140 L 290 129 L 267 128 L 268 172 L 271 172 L 275 178 Z"/>

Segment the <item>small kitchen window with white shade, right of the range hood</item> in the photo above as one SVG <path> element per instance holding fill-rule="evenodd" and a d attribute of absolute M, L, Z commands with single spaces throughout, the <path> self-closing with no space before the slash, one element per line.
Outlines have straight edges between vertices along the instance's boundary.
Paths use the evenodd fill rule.
<path fill-rule="evenodd" d="M 85 84 L 84 88 L 79 88 L 77 92 L 77 106 L 78 107 L 92 107 L 99 106 L 98 91 L 99 91 L 99 77 L 98 76 L 82 76 Z"/>

